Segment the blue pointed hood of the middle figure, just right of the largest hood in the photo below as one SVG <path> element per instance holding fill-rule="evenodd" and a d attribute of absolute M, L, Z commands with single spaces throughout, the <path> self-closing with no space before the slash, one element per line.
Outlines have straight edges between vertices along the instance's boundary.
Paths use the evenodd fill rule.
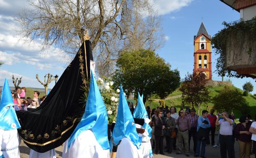
<path fill-rule="evenodd" d="M 119 105 L 117 110 L 117 119 L 113 129 L 112 138 L 115 144 L 118 144 L 123 137 L 127 137 L 139 149 L 141 140 L 136 131 L 136 125 L 132 113 L 125 99 L 122 85 L 120 85 Z"/>

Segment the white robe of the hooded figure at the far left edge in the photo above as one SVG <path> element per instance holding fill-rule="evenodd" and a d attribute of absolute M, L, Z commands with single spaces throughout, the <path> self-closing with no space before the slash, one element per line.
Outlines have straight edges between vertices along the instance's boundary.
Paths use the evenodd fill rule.
<path fill-rule="evenodd" d="M 20 158 L 19 156 L 19 144 L 21 139 L 17 129 L 3 130 L 0 129 L 0 156 L 5 158 Z"/>

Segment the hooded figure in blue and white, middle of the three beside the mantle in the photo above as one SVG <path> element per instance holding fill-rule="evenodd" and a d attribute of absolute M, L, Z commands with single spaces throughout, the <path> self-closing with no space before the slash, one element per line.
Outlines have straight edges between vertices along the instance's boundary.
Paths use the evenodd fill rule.
<path fill-rule="evenodd" d="M 117 119 L 110 140 L 111 151 L 113 147 L 112 141 L 115 144 L 120 142 L 117 147 L 116 158 L 143 158 L 142 152 L 139 150 L 141 138 L 136 131 L 136 125 L 125 99 L 122 85 L 120 85 Z"/>

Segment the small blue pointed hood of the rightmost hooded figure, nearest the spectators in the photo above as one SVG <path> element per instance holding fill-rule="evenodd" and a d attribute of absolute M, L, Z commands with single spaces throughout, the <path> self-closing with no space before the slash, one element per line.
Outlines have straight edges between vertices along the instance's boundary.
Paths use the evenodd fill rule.
<path fill-rule="evenodd" d="M 142 94 L 143 96 L 143 94 Z M 134 118 L 145 119 L 148 118 L 148 112 L 145 108 L 143 100 L 138 92 L 138 105 L 135 107 L 133 115 Z"/>

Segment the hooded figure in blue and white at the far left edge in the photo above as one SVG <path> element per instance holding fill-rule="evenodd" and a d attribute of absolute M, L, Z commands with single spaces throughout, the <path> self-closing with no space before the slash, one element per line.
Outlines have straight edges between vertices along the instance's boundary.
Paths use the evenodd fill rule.
<path fill-rule="evenodd" d="M 11 90 L 5 79 L 0 100 L 0 158 L 20 158 L 18 118 L 14 110 Z"/>

